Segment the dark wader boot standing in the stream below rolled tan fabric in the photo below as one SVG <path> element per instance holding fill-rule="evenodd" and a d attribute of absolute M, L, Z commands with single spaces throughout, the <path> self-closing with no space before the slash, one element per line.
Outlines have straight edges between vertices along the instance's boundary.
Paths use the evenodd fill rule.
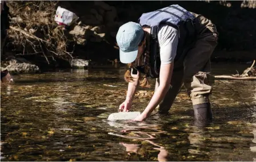
<path fill-rule="evenodd" d="M 205 127 L 211 121 L 213 121 L 213 112 L 211 111 L 210 103 L 201 103 L 198 105 L 193 105 L 195 126 Z"/>

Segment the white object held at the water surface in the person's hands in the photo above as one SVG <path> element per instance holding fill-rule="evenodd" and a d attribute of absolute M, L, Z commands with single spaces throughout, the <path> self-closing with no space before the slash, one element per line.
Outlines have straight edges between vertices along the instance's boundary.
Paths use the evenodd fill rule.
<path fill-rule="evenodd" d="M 138 115 L 141 115 L 139 111 L 135 112 L 119 112 L 119 113 L 113 113 L 109 115 L 109 118 L 107 118 L 109 121 L 119 121 L 119 120 L 132 120 L 138 117 Z"/>

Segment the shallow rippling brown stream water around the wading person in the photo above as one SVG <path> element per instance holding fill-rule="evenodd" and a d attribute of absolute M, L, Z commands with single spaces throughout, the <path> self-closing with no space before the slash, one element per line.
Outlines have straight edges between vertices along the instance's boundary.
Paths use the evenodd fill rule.
<path fill-rule="evenodd" d="M 235 73 L 234 67 L 225 65 L 223 72 L 213 65 L 213 72 Z M 217 80 L 209 127 L 194 126 L 184 89 L 169 115 L 145 122 L 107 121 L 125 99 L 123 73 L 125 68 L 111 67 L 62 70 L 22 74 L 13 77 L 13 84 L 2 84 L 1 161 L 256 160 L 256 114 Z M 223 82 L 256 109 L 255 81 Z M 149 100 L 149 95 L 136 95 L 132 110 L 143 111 Z"/>

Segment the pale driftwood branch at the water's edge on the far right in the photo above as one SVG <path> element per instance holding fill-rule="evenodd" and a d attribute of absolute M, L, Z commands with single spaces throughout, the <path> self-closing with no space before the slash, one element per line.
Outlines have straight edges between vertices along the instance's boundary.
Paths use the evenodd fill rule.
<path fill-rule="evenodd" d="M 230 80 L 256 80 L 256 68 L 254 68 L 255 60 L 250 68 L 243 71 L 241 75 L 234 74 L 232 76 L 214 76 L 215 78 L 230 79 Z"/>

